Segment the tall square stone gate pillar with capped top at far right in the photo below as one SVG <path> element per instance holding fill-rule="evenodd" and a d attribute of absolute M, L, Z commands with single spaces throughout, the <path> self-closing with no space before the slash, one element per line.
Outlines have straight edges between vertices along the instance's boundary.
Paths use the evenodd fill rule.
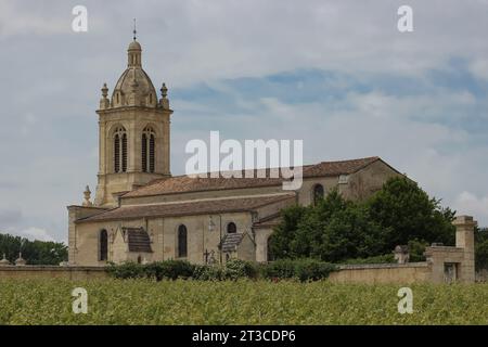
<path fill-rule="evenodd" d="M 460 266 L 459 279 L 464 283 L 475 281 L 474 228 L 476 221 L 471 216 L 458 216 L 452 222 L 455 226 L 455 246 L 463 248 L 463 261 Z"/>

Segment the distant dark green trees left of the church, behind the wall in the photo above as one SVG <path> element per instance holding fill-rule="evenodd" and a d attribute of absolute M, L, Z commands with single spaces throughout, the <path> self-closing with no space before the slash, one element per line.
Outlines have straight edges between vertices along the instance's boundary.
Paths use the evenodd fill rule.
<path fill-rule="evenodd" d="M 21 247 L 22 244 L 22 247 Z M 63 243 L 29 241 L 21 236 L 0 234 L 0 258 L 5 254 L 10 262 L 18 258 L 18 252 L 28 265 L 60 265 L 67 260 L 67 246 Z"/>

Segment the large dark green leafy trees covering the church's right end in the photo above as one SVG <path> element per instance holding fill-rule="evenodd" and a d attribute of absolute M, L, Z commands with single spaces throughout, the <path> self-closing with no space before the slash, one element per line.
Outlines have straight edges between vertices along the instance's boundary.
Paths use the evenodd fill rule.
<path fill-rule="evenodd" d="M 288 207 L 282 215 L 269 240 L 277 259 L 344 262 L 390 254 L 409 242 L 413 259 L 422 259 L 423 244 L 453 244 L 455 234 L 454 213 L 404 177 L 389 179 L 365 202 L 346 201 L 333 190 L 316 206 Z"/>

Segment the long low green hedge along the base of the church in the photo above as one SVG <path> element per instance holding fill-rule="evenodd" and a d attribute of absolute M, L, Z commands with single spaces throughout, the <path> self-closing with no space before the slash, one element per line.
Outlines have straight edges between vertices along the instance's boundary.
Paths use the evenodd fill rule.
<path fill-rule="evenodd" d="M 277 260 L 260 266 L 249 261 L 231 259 L 224 267 L 195 266 L 183 260 L 164 260 L 147 265 L 136 262 L 112 264 L 107 268 L 107 272 L 116 279 L 147 278 L 156 281 L 176 279 L 235 281 L 243 278 L 265 278 L 270 280 L 297 279 L 305 282 L 325 279 L 333 270 L 333 265 L 313 259 Z"/>

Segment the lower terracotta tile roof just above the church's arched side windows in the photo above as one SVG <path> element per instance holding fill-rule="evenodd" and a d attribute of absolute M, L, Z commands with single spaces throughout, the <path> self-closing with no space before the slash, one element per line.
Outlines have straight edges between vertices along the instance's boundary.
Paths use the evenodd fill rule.
<path fill-rule="evenodd" d="M 295 201 L 295 194 L 277 194 L 182 203 L 121 206 L 91 217 L 78 219 L 77 222 L 248 211 L 268 204 L 278 203 L 285 200 Z"/>

